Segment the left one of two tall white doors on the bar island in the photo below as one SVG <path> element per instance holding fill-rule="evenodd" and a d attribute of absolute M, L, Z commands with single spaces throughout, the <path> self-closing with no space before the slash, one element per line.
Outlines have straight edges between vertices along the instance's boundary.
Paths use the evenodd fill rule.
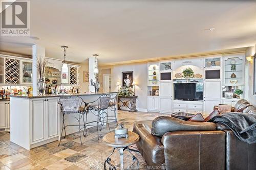
<path fill-rule="evenodd" d="M 32 143 L 45 140 L 45 99 L 32 100 Z"/>

